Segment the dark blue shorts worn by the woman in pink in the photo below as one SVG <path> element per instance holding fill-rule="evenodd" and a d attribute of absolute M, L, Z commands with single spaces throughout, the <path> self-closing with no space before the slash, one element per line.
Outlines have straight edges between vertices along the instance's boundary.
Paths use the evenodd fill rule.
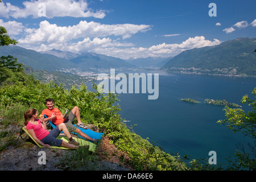
<path fill-rule="evenodd" d="M 61 139 L 57 139 L 59 134 L 59 126 L 56 126 L 53 130 L 49 131 L 49 134 L 46 137 L 44 137 L 40 141 L 43 142 L 44 144 L 49 144 L 50 146 L 60 147 L 63 141 Z"/>

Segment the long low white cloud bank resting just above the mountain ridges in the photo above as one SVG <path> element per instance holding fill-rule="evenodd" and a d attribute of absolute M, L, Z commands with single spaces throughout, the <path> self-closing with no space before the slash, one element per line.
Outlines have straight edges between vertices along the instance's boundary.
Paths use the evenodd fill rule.
<path fill-rule="evenodd" d="M 24 48 L 34 49 L 35 51 L 47 51 L 52 48 L 61 51 L 71 52 L 96 52 L 103 55 L 119 57 L 121 59 L 129 59 L 131 57 L 170 57 L 176 56 L 182 51 L 192 48 L 200 48 L 205 46 L 216 46 L 220 44 L 220 40 L 206 40 L 204 36 L 195 36 L 188 38 L 180 44 L 158 44 L 146 47 L 135 47 L 133 43 L 119 42 L 118 39 L 110 38 L 84 38 L 78 42 L 52 42 L 41 44 L 22 44 Z M 20 46 L 20 45 L 19 45 Z"/>

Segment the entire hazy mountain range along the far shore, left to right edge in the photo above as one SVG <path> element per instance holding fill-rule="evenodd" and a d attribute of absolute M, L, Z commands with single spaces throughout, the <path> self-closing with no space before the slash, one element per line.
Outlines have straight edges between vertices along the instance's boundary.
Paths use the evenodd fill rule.
<path fill-rule="evenodd" d="M 193 48 L 172 58 L 147 57 L 122 60 L 93 52 L 73 53 L 52 49 L 36 52 L 19 46 L 2 46 L 0 55 L 48 72 L 61 69 L 160 68 L 177 73 L 256 77 L 256 38 L 237 38 L 217 46 Z"/>

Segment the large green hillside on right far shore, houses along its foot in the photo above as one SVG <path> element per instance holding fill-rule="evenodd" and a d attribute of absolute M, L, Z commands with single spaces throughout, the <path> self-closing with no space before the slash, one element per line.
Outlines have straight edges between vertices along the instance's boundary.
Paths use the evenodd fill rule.
<path fill-rule="evenodd" d="M 172 58 L 162 69 L 210 75 L 256 76 L 256 38 L 238 38 L 213 47 L 194 48 Z"/>

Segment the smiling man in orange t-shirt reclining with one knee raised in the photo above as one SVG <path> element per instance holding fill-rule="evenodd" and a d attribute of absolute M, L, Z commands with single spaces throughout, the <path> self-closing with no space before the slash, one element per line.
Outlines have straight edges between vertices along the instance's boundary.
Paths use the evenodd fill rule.
<path fill-rule="evenodd" d="M 77 133 L 81 137 L 88 139 L 92 142 L 97 142 L 96 139 L 90 138 L 85 133 L 82 133 L 82 131 L 80 129 L 73 126 L 72 122 L 73 122 L 73 119 L 76 117 L 77 126 L 83 128 L 83 129 L 87 129 L 81 122 L 79 107 L 77 107 L 77 106 L 73 107 L 73 109 L 69 112 L 68 117 L 65 118 L 64 115 L 61 113 L 61 111 L 59 109 L 57 109 L 57 107 L 53 107 L 53 105 L 54 105 L 53 99 L 48 98 L 46 100 L 47 109 L 44 109 L 42 111 L 42 115 L 45 114 L 47 116 L 47 118 L 44 118 L 44 121 L 51 120 L 52 123 L 56 126 L 59 125 L 60 123 L 65 123 L 65 125 L 67 126 L 67 128 L 70 132 Z"/>

